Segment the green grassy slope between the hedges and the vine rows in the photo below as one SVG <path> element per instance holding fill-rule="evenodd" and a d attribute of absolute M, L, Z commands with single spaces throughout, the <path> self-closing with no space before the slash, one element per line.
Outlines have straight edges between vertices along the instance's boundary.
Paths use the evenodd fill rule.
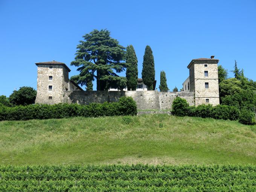
<path fill-rule="evenodd" d="M 143 115 L 0 122 L 0 164 L 256 165 L 256 126 Z"/>

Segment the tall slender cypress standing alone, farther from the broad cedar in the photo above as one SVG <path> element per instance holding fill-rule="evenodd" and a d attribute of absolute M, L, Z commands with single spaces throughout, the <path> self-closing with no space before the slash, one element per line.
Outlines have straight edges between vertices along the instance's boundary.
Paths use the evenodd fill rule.
<path fill-rule="evenodd" d="M 155 63 L 151 48 L 147 45 L 143 56 L 142 79 L 150 89 L 155 81 Z M 152 89 L 152 88 L 151 88 Z"/>

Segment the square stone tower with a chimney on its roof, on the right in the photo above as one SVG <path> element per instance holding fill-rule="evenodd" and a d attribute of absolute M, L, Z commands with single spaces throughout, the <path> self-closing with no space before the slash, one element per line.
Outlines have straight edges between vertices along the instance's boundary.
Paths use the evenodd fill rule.
<path fill-rule="evenodd" d="M 219 104 L 218 59 L 193 59 L 189 69 L 189 91 L 195 92 L 195 105 Z"/>

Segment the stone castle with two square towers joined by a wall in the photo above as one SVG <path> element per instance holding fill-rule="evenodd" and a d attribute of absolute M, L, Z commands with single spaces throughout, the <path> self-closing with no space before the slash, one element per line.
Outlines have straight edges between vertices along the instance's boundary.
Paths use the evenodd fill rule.
<path fill-rule="evenodd" d="M 58 104 L 91 102 L 115 102 L 122 96 L 131 96 L 140 110 L 171 109 L 173 100 L 179 96 L 190 105 L 219 104 L 218 59 L 192 59 L 187 68 L 189 77 L 181 92 L 155 91 L 84 91 L 69 79 L 70 69 L 57 61 L 38 62 L 36 103 Z"/>

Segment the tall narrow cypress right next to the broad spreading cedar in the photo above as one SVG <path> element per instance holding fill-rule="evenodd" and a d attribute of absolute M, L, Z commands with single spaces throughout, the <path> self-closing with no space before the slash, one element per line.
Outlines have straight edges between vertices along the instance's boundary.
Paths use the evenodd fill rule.
<path fill-rule="evenodd" d="M 126 47 L 126 85 L 128 90 L 136 90 L 138 80 L 138 59 L 132 45 Z"/>

